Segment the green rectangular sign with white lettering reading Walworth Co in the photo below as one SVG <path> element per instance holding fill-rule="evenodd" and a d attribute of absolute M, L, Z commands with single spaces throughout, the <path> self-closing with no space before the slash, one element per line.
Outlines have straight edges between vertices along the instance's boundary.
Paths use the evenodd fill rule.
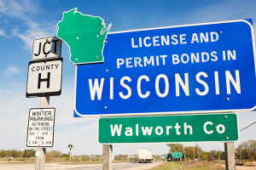
<path fill-rule="evenodd" d="M 98 119 L 100 144 L 230 142 L 238 139 L 236 113 Z"/>

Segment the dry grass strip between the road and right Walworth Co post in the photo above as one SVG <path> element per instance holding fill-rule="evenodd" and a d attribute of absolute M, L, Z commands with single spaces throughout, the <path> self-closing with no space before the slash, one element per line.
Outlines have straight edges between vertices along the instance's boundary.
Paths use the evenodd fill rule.
<path fill-rule="evenodd" d="M 174 161 L 173 169 L 180 169 L 179 162 Z M 181 169 L 188 170 L 224 170 L 224 167 L 220 167 L 213 163 L 209 163 L 207 161 L 183 161 Z M 164 162 L 157 167 L 152 168 L 151 170 L 172 170 L 172 162 Z"/>

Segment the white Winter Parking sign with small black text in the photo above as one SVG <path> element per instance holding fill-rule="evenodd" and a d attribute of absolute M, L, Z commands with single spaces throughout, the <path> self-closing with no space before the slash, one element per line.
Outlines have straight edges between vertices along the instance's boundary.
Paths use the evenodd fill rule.
<path fill-rule="evenodd" d="M 26 147 L 53 147 L 55 108 L 31 108 L 28 114 Z"/>

